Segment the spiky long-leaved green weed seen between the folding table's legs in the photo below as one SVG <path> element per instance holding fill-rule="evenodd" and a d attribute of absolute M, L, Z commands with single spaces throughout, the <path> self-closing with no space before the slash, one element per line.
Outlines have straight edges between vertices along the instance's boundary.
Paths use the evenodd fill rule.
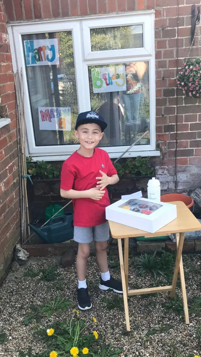
<path fill-rule="evenodd" d="M 163 275 L 163 272 L 158 267 L 158 260 L 156 259 L 156 252 L 151 255 L 145 253 L 141 254 L 140 257 L 135 258 L 139 263 L 136 264 L 136 268 L 139 269 L 139 274 L 143 274 L 146 272 L 151 272 L 155 277 L 157 273 Z"/>

